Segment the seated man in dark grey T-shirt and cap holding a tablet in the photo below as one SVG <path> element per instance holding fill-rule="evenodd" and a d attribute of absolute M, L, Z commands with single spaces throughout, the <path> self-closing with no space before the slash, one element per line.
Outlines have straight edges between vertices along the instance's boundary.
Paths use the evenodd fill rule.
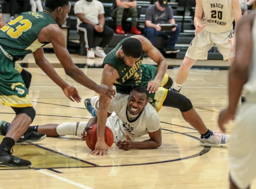
<path fill-rule="evenodd" d="M 178 53 L 179 49 L 175 49 L 174 46 L 181 32 L 181 27 L 177 25 L 177 27 L 172 28 L 172 31 L 161 31 L 161 24 L 166 23 L 175 24 L 173 9 L 168 5 L 167 0 L 159 0 L 147 8 L 146 28 L 144 29 L 146 38 L 154 44 L 157 36 L 163 36 L 168 39 L 165 53 Z"/>

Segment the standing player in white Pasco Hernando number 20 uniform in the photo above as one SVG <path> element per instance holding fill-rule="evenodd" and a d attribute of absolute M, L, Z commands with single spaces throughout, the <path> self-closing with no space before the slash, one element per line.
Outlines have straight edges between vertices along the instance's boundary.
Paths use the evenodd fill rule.
<path fill-rule="evenodd" d="M 215 44 L 224 60 L 232 63 L 235 35 L 232 22 L 242 17 L 239 0 L 196 0 L 195 38 L 178 69 L 173 89 L 180 91 L 196 60 L 207 60 L 207 53 Z"/>

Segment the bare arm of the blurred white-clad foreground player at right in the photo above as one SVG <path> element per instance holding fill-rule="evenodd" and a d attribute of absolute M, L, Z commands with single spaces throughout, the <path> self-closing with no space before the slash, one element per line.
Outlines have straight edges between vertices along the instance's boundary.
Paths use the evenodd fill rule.
<path fill-rule="evenodd" d="M 221 111 L 218 118 L 218 124 L 222 131 L 225 131 L 224 124 L 234 119 L 242 87 L 248 80 L 248 70 L 252 60 L 252 25 L 254 18 L 255 12 L 249 13 L 242 17 L 236 26 L 236 54 L 228 76 L 229 103 L 228 107 Z"/>

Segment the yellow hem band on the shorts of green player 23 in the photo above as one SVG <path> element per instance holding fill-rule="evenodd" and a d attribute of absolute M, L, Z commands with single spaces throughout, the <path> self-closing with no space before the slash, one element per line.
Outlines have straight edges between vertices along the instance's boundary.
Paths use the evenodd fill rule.
<path fill-rule="evenodd" d="M 17 95 L 0 95 L 0 99 L 2 103 L 6 106 L 13 106 L 13 107 L 32 107 L 32 102 L 29 99 L 28 95 L 25 97 L 19 97 Z"/>

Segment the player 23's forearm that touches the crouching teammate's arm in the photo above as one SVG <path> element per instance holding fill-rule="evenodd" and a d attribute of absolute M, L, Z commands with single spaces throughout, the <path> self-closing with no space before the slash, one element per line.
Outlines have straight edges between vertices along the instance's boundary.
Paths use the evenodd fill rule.
<path fill-rule="evenodd" d="M 92 79 L 90 79 L 88 76 L 86 76 L 81 69 L 79 69 L 77 66 L 74 66 L 73 68 L 68 68 L 68 70 L 65 70 L 66 74 L 70 76 L 72 79 L 74 79 L 76 82 L 80 83 L 81 85 L 96 91 L 97 85 Z M 96 91 L 97 92 L 97 91 Z"/>

